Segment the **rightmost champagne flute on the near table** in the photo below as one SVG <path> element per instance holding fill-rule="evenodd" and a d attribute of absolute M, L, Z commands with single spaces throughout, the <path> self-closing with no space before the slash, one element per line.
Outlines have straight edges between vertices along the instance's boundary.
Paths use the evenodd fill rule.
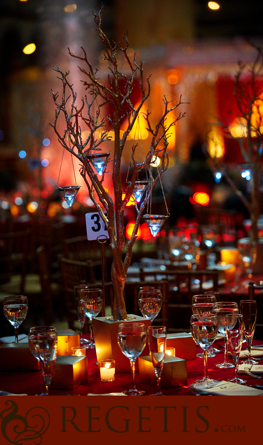
<path fill-rule="evenodd" d="M 244 318 L 244 336 L 248 344 L 248 359 L 242 361 L 246 364 L 258 363 L 251 358 L 251 343 L 254 337 L 256 320 L 257 320 L 257 302 L 256 300 L 240 300 L 240 313 Z"/>

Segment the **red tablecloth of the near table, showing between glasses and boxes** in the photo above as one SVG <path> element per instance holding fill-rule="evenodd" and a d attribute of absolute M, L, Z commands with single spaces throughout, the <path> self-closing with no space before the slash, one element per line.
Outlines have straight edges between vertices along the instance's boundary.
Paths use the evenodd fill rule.
<path fill-rule="evenodd" d="M 263 341 L 253 340 L 252 345 L 260 345 Z M 223 341 L 215 343 L 215 346 L 223 346 Z M 246 343 L 244 343 L 243 349 L 246 349 Z M 197 353 L 201 352 L 201 348 L 197 348 Z M 88 379 L 87 382 L 78 386 L 74 390 L 50 390 L 50 395 L 62 396 L 62 395 L 80 395 L 86 396 L 87 394 L 108 394 L 108 393 L 121 393 L 127 390 L 131 386 L 131 374 L 116 374 L 114 382 L 101 382 L 98 365 L 96 362 L 95 349 L 87 349 L 86 353 L 88 359 Z M 231 361 L 231 358 L 229 358 Z M 211 379 L 215 380 L 227 380 L 234 377 L 234 368 L 223 370 L 215 366 L 216 363 L 223 361 L 223 348 L 222 353 L 218 353 L 216 357 L 208 357 L 208 373 Z M 263 361 L 260 362 L 263 364 Z M 189 385 L 194 383 L 197 378 L 203 376 L 204 373 L 204 360 L 203 358 L 195 358 L 186 361 L 187 365 L 187 385 L 178 386 L 172 388 L 163 388 L 162 392 L 166 396 L 193 396 L 194 394 L 189 389 Z M 259 385 L 263 384 L 263 381 L 251 377 L 246 374 L 242 374 L 242 377 L 247 380 L 247 385 Z M 13 394 L 26 394 L 28 396 L 34 396 L 39 394 L 42 390 L 43 378 L 42 372 L 39 371 L 1 371 L 0 372 L 0 390 L 8 391 Z M 139 381 L 138 372 L 135 373 L 136 388 L 145 391 L 145 395 L 154 394 L 156 388 L 153 388 L 147 384 Z M 143 397 L 143 396 L 142 396 Z"/>

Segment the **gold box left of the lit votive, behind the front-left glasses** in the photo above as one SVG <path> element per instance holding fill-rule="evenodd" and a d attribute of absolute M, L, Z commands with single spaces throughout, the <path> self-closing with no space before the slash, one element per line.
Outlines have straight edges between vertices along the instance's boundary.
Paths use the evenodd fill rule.
<path fill-rule="evenodd" d="M 57 356 L 50 388 L 75 389 L 87 380 L 87 357 Z"/>

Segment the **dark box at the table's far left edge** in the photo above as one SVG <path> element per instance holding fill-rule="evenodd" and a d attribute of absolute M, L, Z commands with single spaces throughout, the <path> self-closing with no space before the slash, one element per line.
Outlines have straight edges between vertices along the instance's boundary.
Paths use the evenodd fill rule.
<path fill-rule="evenodd" d="M 38 371 L 40 362 L 26 343 L 5 343 L 0 346 L 1 371 Z"/>

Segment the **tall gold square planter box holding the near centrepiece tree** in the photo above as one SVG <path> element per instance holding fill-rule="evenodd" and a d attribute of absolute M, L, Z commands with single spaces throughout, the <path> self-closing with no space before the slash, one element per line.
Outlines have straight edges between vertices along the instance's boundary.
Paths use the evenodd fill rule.
<path fill-rule="evenodd" d="M 147 318 L 133 314 L 128 314 L 128 317 L 132 317 L 132 319 L 127 321 L 141 321 L 144 323 L 146 330 L 150 326 L 150 320 Z M 122 353 L 118 345 L 117 331 L 122 321 L 112 321 L 107 318 L 109 317 L 95 317 L 92 319 L 97 361 L 99 363 L 100 360 L 112 358 L 116 364 L 115 374 L 131 372 L 130 360 Z M 142 354 L 148 354 L 147 342 Z M 137 360 L 135 361 L 135 370 L 138 370 Z"/>

